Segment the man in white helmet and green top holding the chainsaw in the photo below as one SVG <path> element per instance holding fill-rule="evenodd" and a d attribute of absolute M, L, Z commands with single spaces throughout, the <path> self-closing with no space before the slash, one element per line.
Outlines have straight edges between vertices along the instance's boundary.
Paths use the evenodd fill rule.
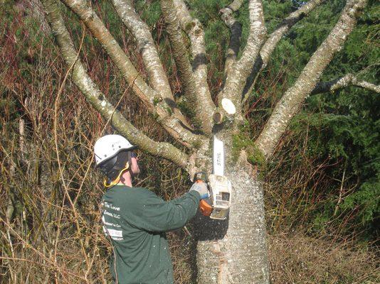
<path fill-rule="evenodd" d="M 103 229 L 114 249 L 110 271 L 117 284 L 171 284 L 165 232 L 189 222 L 208 190 L 205 183 L 194 183 L 182 197 L 165 202 L 146 188 L 133 187 L 132 177 L 139 173 L 134 148 L 119 135 L 103 136 L 94 147 L 97 167 L 107 177 L 101 205 Z"/>

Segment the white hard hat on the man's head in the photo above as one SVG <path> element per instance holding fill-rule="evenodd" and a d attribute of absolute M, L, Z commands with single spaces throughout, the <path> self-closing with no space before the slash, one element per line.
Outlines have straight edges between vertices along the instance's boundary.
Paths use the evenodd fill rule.
<path fill-rule="evenodd" d="M 94 146 L 95 162 L 99 166 L 107 160 L 114 158 L 120 151 L 132 151 L 137 146 L 133 146 L 126 138 L 116 134 L 102 136 L 97 139 Z"/>

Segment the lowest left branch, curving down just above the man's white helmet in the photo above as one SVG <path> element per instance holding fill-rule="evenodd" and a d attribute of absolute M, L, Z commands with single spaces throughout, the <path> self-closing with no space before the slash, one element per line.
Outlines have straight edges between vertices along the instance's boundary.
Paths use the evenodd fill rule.
<path fill-rule="evenodd" d="M 55 0 L 43 0 L 46 9 L 47 18 L 53 34 L 58 41 L 60 53 L 68 66 L 73 66 L 72 79 L 75 85 L 80 89 L 90 104 L 105 118 L 110 119 L 112 126 L 123 136 L 127 137 L 132 143 L 138 145 L 142 150 L 167 158 L 176 165 L 186 168 L 188 156 L 179 151 L 169 143 L 158 143 L 152 141 L 144 133 L 136 129 L 130 121 L 127 121 L 119 111 L 115 110 L 104 94 L 100 92 L 93 80 L 88 76 L 80 60 L 77 60 L 77 53 L 74 48 L 72 38 L 65 27 L 63 18 L 60 15 Z"/>

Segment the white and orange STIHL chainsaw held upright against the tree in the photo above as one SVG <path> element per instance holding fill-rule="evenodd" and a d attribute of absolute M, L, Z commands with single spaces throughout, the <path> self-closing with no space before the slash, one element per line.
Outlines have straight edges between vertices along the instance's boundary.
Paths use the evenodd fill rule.
<path fill-rule="evenodd" d="M 201 200 L 199 210 L 211 219 L 224 220 L 231 207 L 231 181 L 224 175 L 224 145 L 223 141 L 213 136 L 213 173 L 196 173 L 195 182 L 206 182 L 209 197 Z"/>

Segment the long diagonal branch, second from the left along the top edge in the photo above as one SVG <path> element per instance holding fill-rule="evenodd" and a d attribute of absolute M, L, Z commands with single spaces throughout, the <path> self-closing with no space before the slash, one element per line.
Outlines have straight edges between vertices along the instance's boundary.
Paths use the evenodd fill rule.
<path fill-rule="evenodd" d="M 97 40 L 105 48 L 108 55 L 122 73 L 127 82 L 132 85 L 133 91 L 142 99 L 145 107 L 154 115 L 158 116 L 159 121 L 168 133 L 188 148 L 192 148 L 194 144 L 199 143 L 199 137 L 186 129 L 186 119 L 176 108 L 174 98 L 168 93 L 157 93 L 150 88 L 134 68 L 130 59 L 125 55 L 120 45 L 117 44 L 115 38 L 112 37 L 110 31 L 100 21 L 100 18 L 88 6 L 85 0 L 61 0 L 65 3 L 79 18 Z M 157 78 L 159 80 L 159 78 Z M 162 97 L 161 97 L 162 96 Z M 161 100 L 157 102 L 157 100 Z M 173 115 L 174 114 L 174 115 Z"/>

